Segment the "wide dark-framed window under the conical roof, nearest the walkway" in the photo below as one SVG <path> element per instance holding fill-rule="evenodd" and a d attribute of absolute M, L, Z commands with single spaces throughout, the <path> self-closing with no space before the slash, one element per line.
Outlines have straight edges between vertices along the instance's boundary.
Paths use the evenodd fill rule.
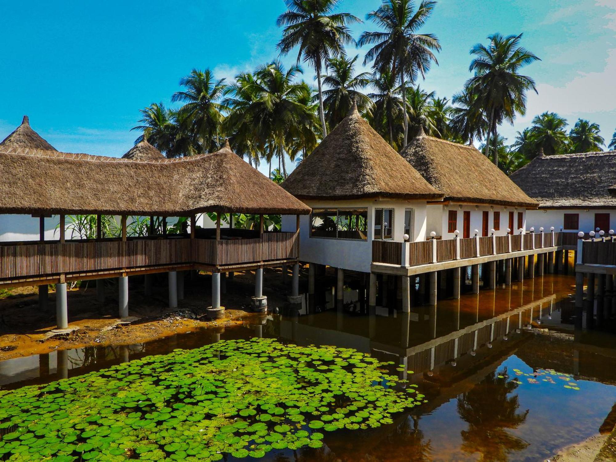
<path fill-rule="evenodd" d="M 368 239 L 368 209 L 313 209 L 310 237 Z"/>

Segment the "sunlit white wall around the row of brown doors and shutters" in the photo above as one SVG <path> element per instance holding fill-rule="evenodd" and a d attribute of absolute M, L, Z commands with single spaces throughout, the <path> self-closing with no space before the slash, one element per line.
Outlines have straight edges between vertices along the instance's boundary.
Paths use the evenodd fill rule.
<path fill-rule="evenodd" d="M 470 237 L 473 237 L 475 234 L 475 230 L 479 230 L 479 235 L 482 235 L 482 226 L 483 226 L 483 213 L 484 211 L 488 212 L 488 235 L 491 234 L 491 230 L 494 228 L 494 212 L 500 212 L 500 229 L 495 231 L 496 236 L 505 236 L 507 234 L 507 229 L 509 227 L 509 212 L 514 213 L 513 225 L 514 232 L 517 233 L 517 214 L 522 212 L 522 228 L 524 230 L 528 229 L 526 224 L 526 214 L 527 211 L 524 208 L 519 207 L 505 207 L 502 205 L 469 205 L 463 203 L 448 203 L 448 204 L 434 204 L 428 205 L 428 229 L 427 234 L 429 235 L 432 231 L 436 232 L 437 236 L 442 237 L 443 239 L 453 239 L 455 238 L 454 233 L 447 232 L 448 229 L 448 217 L 449 211 L 455 210 L 458 212 L 457 222 L 458 225 L 456 229 L 460 231 L 460 237 L 463 237 L 464 230 L 464 211 L 469 211 L 471 213 L 471 222 L 470 222 Z"/>

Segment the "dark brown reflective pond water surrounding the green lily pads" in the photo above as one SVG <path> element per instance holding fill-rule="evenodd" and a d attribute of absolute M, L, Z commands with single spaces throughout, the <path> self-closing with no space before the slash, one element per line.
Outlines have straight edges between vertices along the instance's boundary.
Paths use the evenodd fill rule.
<path fill-rule="evenodd" d="M 545 460 L 616 423 L 614 336 L 608 326 L 573 330 L 573 284 L 572 277 L 546 275 L 439 301 L 436 308 L 415 306 L 410 314 L 381 307 L 365 313 L 351 290 L 336 309 L 333 292 L 321 288 L 299 310 L 250 316 L 235 328 L 0 362 L 0 389 L 219 340 L 336 346 L 393 362 L 393 373 L 417 384 L 428 402 L 395 413 L 393 423 L 379 428 L 325 432 L 320 448 L 272 450 L 262 460 Z"/>

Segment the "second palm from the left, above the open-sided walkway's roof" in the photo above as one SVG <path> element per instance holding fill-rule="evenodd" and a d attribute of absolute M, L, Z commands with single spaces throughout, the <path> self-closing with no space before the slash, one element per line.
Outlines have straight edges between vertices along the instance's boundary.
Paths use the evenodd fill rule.
<path fill-rule="evenodd" d="M 228 109 L 219 102 L 226 88 L 225 79 L 215 80 L 209 69 L 193 69 L 180 79 L 180 86 L 185 87 L 185 91 L 175 92 L 171 100 L 185 102 L 179 111 L 190 123 L 189 130 L 201 145 L 202 152 L 216 150 L 222 142 L 222 112 Z"/>

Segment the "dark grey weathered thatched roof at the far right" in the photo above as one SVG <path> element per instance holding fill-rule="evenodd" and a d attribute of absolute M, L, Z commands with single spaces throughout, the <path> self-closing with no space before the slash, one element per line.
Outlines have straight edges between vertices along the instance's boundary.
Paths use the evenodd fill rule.
<path fill-rule="evenodd" d="M 542 208 L 614 208 L 616 151 L 537 156 L 511 179 Z"/>

